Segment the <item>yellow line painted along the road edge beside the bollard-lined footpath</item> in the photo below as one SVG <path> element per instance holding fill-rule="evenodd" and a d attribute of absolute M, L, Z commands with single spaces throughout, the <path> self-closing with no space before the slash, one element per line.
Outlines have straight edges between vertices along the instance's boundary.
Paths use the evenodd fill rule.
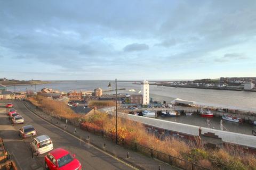
<path fill-rule="evenodd" d="M 71 135 L 72 137 L 74 137 L 75 139 L 79 140 L 80 142 L 83 142 L 83 143 L 85 143 L 86 145 L 90 145 L 90 143 L 86 143 L 85 141 L 83 141 L 83 140 L 77 138 L 75 135 L 70 134 L 70 133 L 68 133 L 68 132 L 66 132 L 66 131 L 64 131 L 64 130 L 62 130 L 62 129 L 59 128 L 57 125 L 54 125 L 54 124 L 52 124 L 52 123 L 46 121 L 44 118 L 39 117 L 39 116 L 38 116 L 37 114 L 35 114 L 34 112 L 30 111 L 30 109 L 29 109 L 24 103 L 22 103 L 22 104 L 28 109 L 29 112 L 33 113 L 35 116 L 37 116 L 38 118 L 40 118 L 40 119 L 43 120 L 44 122 L 46 122 L 46 123 L 48 123 L 48 124 L 54 126 L 55 128 L 61 130 L 62 132 L 65 132 L 65 133 Z M 139 170 L 138 168 L 136 168 L 136 167 L 134 167 L 134 166 L 132 166 L 132 165 L 130 165 L 130 164 L 124 162 L 123 160 L 118 159 L 117 157 L 115 157 L 115 156 L 113 156 L 113 155 L 111 155 L 111 154 L 108 154 L 108 152 L 106 152 L 106 151 L 103 151 L 103 150 L 101 150 L 101 149 L 99 149 L 99 148 L 97 148 L 97 147 L 94 147 L 94 146 L 92 146 L 92 145 L 90 145 L 90 146 L 93 147 L 94 149 L 97 149 L 98 151 L 102 152 L 103 154 L 106 154 L 106 155 L 110 156 L 111 158 L 116 159 L 118 162 L 123 163 L 123 164 L 126 165 L 126 166 L 129 166 L 129 167 L 132 168 L 132 169 Z"/>

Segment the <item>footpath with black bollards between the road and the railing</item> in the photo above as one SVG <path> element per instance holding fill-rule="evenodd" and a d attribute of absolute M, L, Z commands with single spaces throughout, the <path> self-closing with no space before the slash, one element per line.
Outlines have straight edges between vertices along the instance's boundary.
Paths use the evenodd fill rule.
<path fill-rule="evenodd" d="M 54 118 L 44 112 L 39 111 L 35 108 L 34 105 L 27 101 L 23 101 L 25 107 L 27 107 L 31 112 L 38 115 L 41 118 L 44 118 L 47 122 L 58 126 L 59 128 L 65 130 L 66 132 L 75 135 L 77 138 L 90 143 L 95 148 L 103 150 L 110 155 L 117 157 L 118 159 L 123 160 L 126 163 L 131 164 L 132 166 L 138 169 L 170 169 L 177 170 L 179 168 L 170 166 L 166 163 L 163 163 L 159 160 L 147 157 L 145 155 L 140 154 L 139 152 L 135 152 L 122 146 L 116 145 L 113 141 L 102 138 L 99 135 L 94 135 L 93 133 L 84 131 L 79 127 L 71 124 L 65 125 L 65 122 L 61 122 L 58 118 Z M 127 154 L 129 153 L 129 157 Z"/>

